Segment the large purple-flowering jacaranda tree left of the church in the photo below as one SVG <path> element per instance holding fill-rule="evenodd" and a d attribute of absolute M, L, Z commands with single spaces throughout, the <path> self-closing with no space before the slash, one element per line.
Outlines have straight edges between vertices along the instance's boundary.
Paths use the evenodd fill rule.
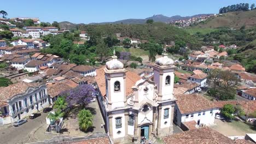
<path fill-rule="evenodd" d="M 80 107 L 85 107 L 93 99 L 93 92 L 95 92 L 95 89 L 91 85 L 82 85 L 72 89 L 66 98 L 68 106 L 79 105 Z"/>

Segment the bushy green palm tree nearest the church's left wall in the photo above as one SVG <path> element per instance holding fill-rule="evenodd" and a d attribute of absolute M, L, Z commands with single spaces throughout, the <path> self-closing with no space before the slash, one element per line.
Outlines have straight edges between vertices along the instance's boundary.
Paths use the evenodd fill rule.
<path fill-rule="evenodd" d="M 81 130 L 86 131 L 88 128 L 92 127 L 92 121 L 94 116 L 91 114 L 90 110 L 80 110 L 78 113 L 78 122 Z"/>

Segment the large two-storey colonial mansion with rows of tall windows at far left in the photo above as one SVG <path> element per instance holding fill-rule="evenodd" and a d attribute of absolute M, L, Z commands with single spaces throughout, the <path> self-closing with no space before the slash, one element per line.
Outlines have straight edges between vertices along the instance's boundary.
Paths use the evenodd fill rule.
<path fill-rule="evenodd" d="M 0 111 L 3 113 L 0 125 L 13 123 L 49 106 L 44 83 L 20 81 L 0 89 Z"/>

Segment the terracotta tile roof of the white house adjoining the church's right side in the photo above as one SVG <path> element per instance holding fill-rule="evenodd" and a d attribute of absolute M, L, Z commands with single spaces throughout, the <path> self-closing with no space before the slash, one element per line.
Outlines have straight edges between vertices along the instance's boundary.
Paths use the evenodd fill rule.
<path fill-rule="evenodd" d="M 182 114 L 209 110 L 218 107 L 210 100 L 207 100 L 202 95 L 198 94 L 179 94 L 174 95 L 174 97 L 177 98 L 176 104 Z"/>

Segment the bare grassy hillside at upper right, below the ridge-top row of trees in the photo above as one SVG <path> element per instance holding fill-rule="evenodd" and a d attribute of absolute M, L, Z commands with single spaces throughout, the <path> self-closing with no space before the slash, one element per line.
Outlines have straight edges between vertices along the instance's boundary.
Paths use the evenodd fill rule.
<path fill-rule="evenodd" d="M 213 19 L 203 21 L 195 27 L 200 28 L 219 28 L 232 27 L 240 28 L 245 25 L 246 28 L 256 26 L 256 9 L 250 11 L 238 11 L 225 13 Z"/>

